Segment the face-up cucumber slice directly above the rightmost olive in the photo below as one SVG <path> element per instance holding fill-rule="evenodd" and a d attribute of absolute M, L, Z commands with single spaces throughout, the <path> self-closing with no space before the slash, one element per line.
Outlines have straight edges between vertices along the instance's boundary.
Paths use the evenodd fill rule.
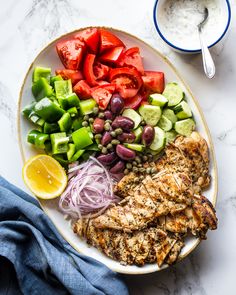
<path fill-rule="evenodd" d="M 146 124 L 156 126 L 161 118 L 161 108 L 152 105 L 142 105 L 139 108 L 139 113 L 143 117 Z"/>

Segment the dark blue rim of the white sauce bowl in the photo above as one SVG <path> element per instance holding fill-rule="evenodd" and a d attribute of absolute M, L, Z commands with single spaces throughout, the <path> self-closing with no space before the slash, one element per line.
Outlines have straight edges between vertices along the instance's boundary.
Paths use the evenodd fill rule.
<path fill-rule="evenodd" d="M 222 35 L 214 42 L 212 43 L 211 45 L 208 46 L 208 48 L 211 48 L 213 47 L 215 44 L 217 44 L 223 37 L 224 35 L 226 34 L 228 28 L 229 28 L 229 25 L 230 25 L 230 20 L 231 20 L 231 8 L 230 8 L 230 3 L 229 3 L 229 0 L 225 0 L 226 1 L 226 4 L 227 4 L 227 8 L 228 8 L 228 21 L 227 21 L 227 25 L 225 27 L 225 30 L 224 32 L 222 33 Z M 157 14 L 156 14 L 156 11 L 157 11 L 157 4 L 158 4 L 159 0 L 156 0 L 155 1 L 155 4 L 154 4 L 154 8 L 153 8 L 153 20 L 154 20 L 154 25 L 155 25 L 155 28 L 158 32 L 158 34 L 160 35 L 160 37 L 162 38 L 163 41 L 165 41 L 169 46 L 171 46 L 172 48 L 178 50 L 178 51 L 183 51 L 183 52 L 189 52 L 189 53 L 197 53 L 197 52 L 200 52 L 201 51 L 201 48 L 199 49 L 185 49 L 185 48 L 180 48 L 178 46 L 175 46 L 173 43 L 171 43 L 170 41 L 168 41 L 164 35 L 162 34 L 160 28 L 159 28 L 159 25 L 158 25 L 158 21 L 157 21 Z"/>

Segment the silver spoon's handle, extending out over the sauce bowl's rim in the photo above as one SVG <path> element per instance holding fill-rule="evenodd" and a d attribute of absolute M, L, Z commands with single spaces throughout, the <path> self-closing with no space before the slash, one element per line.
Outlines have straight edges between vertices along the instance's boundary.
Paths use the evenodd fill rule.
<path fill-rule="evenodd" d="M 215 76 L 216 68 L 215 68 L 214 61 L 211 57 L 210 51 L 203 38 L 203 34 L 201 30 L 199 30 L 199 39 L 200 39 L 200 44 L 202 48 L 202 61 L 203 61 L 204 71 L 206 76 L 209 79 L 211 79 Z"/>

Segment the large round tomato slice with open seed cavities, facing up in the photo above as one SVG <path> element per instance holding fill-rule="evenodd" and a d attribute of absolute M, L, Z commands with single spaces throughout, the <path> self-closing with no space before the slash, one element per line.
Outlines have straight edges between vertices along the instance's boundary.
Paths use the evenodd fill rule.
<path fill-rule="evenodd" d="M 109 80 L 124 99 L 135 96 L 143 83 L 140 73 L 128 67 L 111 69 Z"/>

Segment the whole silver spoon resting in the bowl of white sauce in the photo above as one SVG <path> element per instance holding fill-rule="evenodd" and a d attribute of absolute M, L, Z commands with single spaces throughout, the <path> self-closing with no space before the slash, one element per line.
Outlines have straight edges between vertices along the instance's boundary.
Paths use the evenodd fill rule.
<path fill-rule="evenodd" d="M 205 7 L 204 18 L 198 25 L 198 33 L 199 33 L 199 39 L 200 39 L 200 44 L 202 49 L 202 62 L 203 62 L 204 72 L 206 76 L 211 79 L 215 76 L 216 68 L 202 33 L 202 28 L 204 27 L 207 21 L 208 14 L 209 14 L 208 9 L 207 7 Z"/>

